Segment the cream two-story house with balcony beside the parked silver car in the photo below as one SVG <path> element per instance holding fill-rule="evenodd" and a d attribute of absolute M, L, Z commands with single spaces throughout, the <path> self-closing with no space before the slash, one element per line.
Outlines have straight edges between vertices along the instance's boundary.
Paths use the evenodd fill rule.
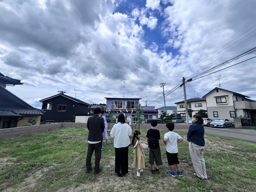
<path fill-rule="evenodd" d="M 246 95 L 215 87 L 203 98 L 206 99 L 208 117 L 211 119 L 227 118 L 233 121 L 234 117 L 240 115 L 248 119 L 256 118 L 256 101 L 248 99 Z"/>

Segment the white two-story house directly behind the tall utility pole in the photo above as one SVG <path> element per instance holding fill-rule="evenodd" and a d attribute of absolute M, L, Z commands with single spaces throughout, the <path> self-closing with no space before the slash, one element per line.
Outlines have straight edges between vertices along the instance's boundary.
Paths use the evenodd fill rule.
<path fill-rule="evenodd" d="M 175 104 L 177 105 L 177 116 L 186 117 L 185 101 L 180 101 Z M 206 99 L 199 97 L 187 99 L 187 108 L 189 117 L 193 117 L 193 115 L 196 114 L 200 109 L 207 110 Z"/>

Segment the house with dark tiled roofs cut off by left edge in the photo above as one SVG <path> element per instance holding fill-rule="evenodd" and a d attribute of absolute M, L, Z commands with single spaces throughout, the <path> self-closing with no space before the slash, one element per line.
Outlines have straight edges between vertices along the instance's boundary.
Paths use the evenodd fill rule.
<path fill-rule="evenodd" d="M 19 79 L 13 79 L 0 73 L 0 129 L 23 127 L 30 118 L 36 117 L 39 125 L 42 110 L 36 109 L 8 91 L 6 86 L 22 85 Z"/>

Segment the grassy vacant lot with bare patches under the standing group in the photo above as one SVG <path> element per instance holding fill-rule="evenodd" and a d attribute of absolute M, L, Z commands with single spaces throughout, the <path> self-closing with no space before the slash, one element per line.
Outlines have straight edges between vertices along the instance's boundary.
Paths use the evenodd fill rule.
<path fill-rule="evenodd" d="M 141 130 L 146 144 L 146 131 Z M 161 139 L 166 132 L 160 130 Z M 151 174 L 148 159 L 140 177 L 132 168 L 133 149 L 129 148 L 129 173 L 117 177 L 114 173 L 113 139 L 104 141 L 101 166 L 94 176 L 86 174 L 88 130 L 59 129 L 0 140 L 0 191 L 179 191 L 179 192 L 252 192 L 256 189 L 256 144 L 205 135 L 204 158 L 208 180 L 193 176 L 193 165 L 185 141 L 187 131 L 176 131 L 184 141 L 178 144 L 180 165 L 184 177 L 170 176 L 165 148 L 161 141 L 162 161 L 159 174 Z M 148 149 L 144 149 L 148 157 Z M 93 159 L 94 161 L 94 159 Z"/>

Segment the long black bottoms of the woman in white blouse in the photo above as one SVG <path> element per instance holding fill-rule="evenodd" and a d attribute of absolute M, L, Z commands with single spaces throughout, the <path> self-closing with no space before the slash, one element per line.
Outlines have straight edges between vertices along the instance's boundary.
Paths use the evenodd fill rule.
<path fill-rule="evenodd" d="M 128 148 L 127 147 L 121 147 L 121 148 L 115 148 L 116 152 L 116 162 L 115 162 L 115 172 L 117 174 L 125 174 L 128 173 Z"/>

